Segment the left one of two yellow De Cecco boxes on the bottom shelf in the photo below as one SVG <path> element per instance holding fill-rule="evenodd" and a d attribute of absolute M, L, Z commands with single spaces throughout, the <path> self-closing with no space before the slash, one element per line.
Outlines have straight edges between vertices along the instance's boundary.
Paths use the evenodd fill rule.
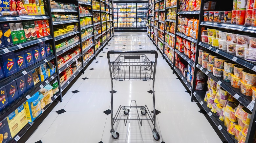
<path fill-rule="evenodd" d="M 10 132 L 11 132 L 11 137 L 14 137 L 20 131 L 19 125 L 18 125 L 18 118 L 17 118 L 17 114 L 15 113 L 15 111 L 13 111 L 7 117 L 7 122 L 9 125 Z"/>

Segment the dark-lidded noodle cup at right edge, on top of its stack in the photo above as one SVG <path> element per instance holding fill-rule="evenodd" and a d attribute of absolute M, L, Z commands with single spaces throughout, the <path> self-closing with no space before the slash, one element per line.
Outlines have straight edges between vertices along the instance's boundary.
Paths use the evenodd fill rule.
<path fill-rule="evenodd" d="M 243 70 L 243 82 L 252 86 L 256 85 L 256 74 L 255 71 L 246 69 Z"/>

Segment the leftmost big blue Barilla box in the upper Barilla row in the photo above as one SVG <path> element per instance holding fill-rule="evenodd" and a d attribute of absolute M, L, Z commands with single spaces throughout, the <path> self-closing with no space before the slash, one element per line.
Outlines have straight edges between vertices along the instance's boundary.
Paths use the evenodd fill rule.
<path fill-rule="evenodd" d="M 3 65 L 5 77 L 8 77 L 17 72 L 16 62 L 15 62 L 13 52 L 1 55 L 0 59 Z"/>

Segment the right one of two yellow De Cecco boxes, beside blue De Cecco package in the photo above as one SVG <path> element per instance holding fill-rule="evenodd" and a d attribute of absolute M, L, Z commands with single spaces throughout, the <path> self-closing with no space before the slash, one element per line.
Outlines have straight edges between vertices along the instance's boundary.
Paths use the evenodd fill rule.
<path fill-rule="evenodd" d="M 19 129 L 21 130 L 23 127 L 25 127 L 28 124 L 27 114 L 26 114 L 24 104 L 19 106 L 19 108 L 16 109 L 15 112 L 18 118 L 18 126 L 19 126 Z"/>

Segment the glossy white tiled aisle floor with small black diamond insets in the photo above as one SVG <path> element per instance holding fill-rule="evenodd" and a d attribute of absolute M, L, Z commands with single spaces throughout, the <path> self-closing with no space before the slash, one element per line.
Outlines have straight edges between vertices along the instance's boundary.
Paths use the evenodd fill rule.
<path fill-rule="evenodd" d="M 120 33 L 119 33 L 120 34 Z M 118 35 L 119 35 L 118 34 Z M 106 52 L 108 50 L 156 50 L 147 36 L 115 36 L 103 52 L 92 62 L 85 74 L 58 103 L 42 122 L 27 143 L 221 143 L 207 119 L 196 103 L 190 102 L 190 96 L 181 82 L 172 74 L 169 65 L 159 53 L 155 81 L 156 129 L 160 141 L 152 135 L 153 125 L 143 120 L 130 120 L 124 126 L 123 120 L 115 123 L 114 128 L 120 134 L 118 139 L 111 137 L 111 81 Z M 146 35 L 143 33 L 143 35 Z M 125 45 L 125 46 L 124 46 Z M 125 48 L 125 49 L 123 49 Z M 112 56 L 114 58 L 116 56 Z M 154 58 L 154 56 L 148 56 Z M 96 61 L 99 61 L 96 63 Z M 94 68 L 95 70 L 89 70 Z M 82 79 L 87 77 L 88 79 Z M 79 92 L 73 93 L 72 91 Z M 152 81 L 114 81 L 114 114 L 119 105 L 129 106 L 131 100 L 137 105 L 147 105 L 153 110 Z M 149 91 L 149 92 L 147 92 Z M 62 110 L 61 110 L 62 109 Z M 63 109 L 64 113 L 56 111 Z M 105 112 L 104 112 L 105 111 Z M 127 117 L 120 112 L 122 118 Z M 140 114 L 140 113 L 139 113 Z M 132 114 L 132 117 L 137 115 Z M 147 118 L 148 116 L 142 116 Z"/>

